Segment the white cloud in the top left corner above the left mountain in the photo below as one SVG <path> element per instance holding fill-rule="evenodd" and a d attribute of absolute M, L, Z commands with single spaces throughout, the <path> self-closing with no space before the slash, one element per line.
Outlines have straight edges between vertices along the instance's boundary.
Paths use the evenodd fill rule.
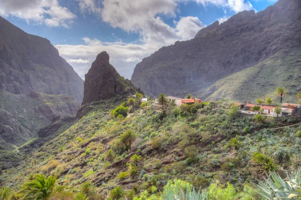
<path fill-rule="evenodd" d="M 76 15 L 58 0 L 0 0 L 0 15 L 13 15 L 27 22 L 42 23 L 48 26 L 70 27 Z"/>

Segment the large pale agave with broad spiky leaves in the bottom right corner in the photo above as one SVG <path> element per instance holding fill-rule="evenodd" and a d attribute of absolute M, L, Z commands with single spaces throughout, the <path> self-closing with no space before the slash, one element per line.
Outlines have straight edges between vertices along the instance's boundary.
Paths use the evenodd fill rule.
<path fill-rule="evenodd" d="M 284 179 L 270 171 L 264 181 L 255 185 L 255 191 L 264 199 L 301 199 L 301 171 L 287 173 Z"/>

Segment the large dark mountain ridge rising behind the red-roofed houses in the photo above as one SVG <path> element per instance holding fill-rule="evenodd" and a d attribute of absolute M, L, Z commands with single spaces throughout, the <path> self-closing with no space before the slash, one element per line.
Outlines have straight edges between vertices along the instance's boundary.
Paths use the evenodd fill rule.
<path fill-rule="evenodd" d="M 239 12 L 221 24 L 216 21 L 201 29 L 191 40 L 164 46 L 142 59 L 131 81 L 149 95 L 204 93 L 216 81 L 255 66 L 277 52 L 299 50 L 300 21 L 300 0 L 278 0 L 257 13 Z M 262 95 L 268 89 L 263 89 Z"/>

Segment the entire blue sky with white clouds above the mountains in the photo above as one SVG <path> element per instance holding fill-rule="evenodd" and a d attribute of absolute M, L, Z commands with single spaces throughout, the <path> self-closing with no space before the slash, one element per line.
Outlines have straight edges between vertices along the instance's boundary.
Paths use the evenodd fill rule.
<path fill-rule="evenodd" d="M 96 55 L 130 79 L 135 65 L 162 46 L 235 13 L 256 12 L 277 0 L 0 0 L 0 15 L 46 37 L 84 79 Z"/>

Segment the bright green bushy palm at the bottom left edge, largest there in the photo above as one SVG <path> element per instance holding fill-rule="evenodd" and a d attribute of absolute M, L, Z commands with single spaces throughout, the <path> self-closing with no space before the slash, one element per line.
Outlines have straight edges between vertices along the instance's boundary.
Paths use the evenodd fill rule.
<path fill-rule="evenodd" d="M 54 193 L 57 176 L 50 175 L 47 179 L 43 174 L 36 174 L 34 180 L 28 180 L 22 186 L 24 200 L 49 200 Z"/>

